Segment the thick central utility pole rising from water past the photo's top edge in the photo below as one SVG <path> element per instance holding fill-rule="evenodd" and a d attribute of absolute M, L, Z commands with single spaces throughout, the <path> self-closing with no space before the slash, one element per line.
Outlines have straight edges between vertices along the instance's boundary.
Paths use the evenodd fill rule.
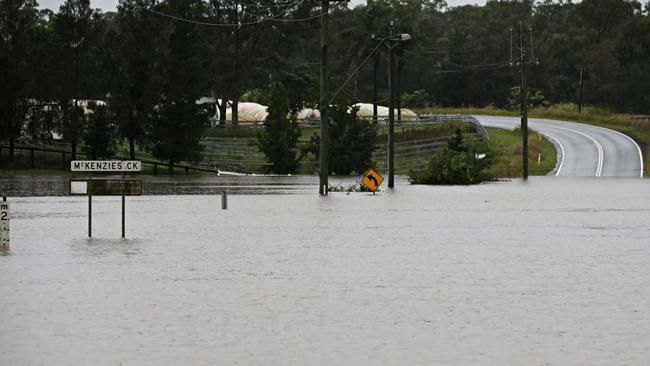
<path fill-rule="evenodd" d="M 329 148 L 329 98 L 327 76 L 327 13 L 329 13 L 329 0 L 321 1 L 320 17 L 320 179 L 318 193 L 326 196 L 328 191 L 327 178 L 329 175 L 328 148 Z"/>

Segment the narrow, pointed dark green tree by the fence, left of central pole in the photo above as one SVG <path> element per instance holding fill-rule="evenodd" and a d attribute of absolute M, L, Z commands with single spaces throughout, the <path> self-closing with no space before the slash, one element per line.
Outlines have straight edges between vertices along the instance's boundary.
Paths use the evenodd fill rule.
<path fill-rule="evenodd" d="M 295 118 L 288 117 L 290 108 L 284 85 L 280 82 L 273 83 L 269 96 L 269 114 L 264 121 L 263 132 L 257 135 L 259 149 L 271 163 L 267 172 L 292 174 L 300 164 L 302 155 L 297 148 L 300 127 Z"/>

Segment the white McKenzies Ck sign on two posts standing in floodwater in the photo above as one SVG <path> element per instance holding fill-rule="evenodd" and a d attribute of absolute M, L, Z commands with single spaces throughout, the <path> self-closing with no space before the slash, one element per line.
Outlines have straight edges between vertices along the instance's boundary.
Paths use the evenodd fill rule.
<path fill-rule="evenodd" d="M 73 160 L 73 172 L 140 172 L 142 162 L 138 160 Z M 126 237 L 126 196 L 142 195 L 141 180 L 71 179 L 71 196 L 88 196 L 88 237 L 92 238 L 92 196 L 122 196 L 122 238 Z"/>

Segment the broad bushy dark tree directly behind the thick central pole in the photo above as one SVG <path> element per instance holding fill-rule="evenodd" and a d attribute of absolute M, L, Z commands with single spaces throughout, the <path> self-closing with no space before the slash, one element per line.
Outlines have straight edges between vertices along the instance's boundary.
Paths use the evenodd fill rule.
<path fill-rule="evenodd" d="M 357 107 L 333 105 L 330 107 L 328 167 L 330 173 L 362 174 L 371 168 L 375 150 L 377 127 L 371 121 L 357 116 Z M 308 151 L 318 159 L 320 138 L 311 137 Z"/>

